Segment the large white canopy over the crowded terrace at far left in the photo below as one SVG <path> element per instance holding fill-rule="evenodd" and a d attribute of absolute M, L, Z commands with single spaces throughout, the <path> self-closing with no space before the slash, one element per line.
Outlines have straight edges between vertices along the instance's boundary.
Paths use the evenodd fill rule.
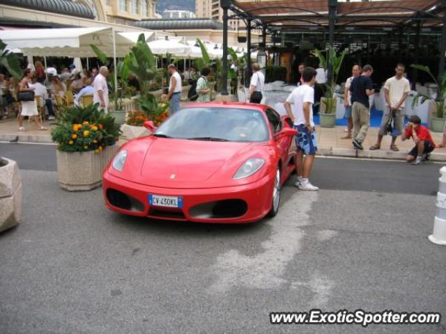
<path fill-rule="evenodd" d="M 8 48 L 21 49 L 22 52 L 33 56 L 94 57 L 95 53 L 90 47 L 92 44 L 107 56 L 114 56 L 113 32 L 112 27 L 17 29 L 0 31 L 0 39 Z M 144 34 L 148 40 L 153 32 Z M 117 31 L 116 56 L 125 56 L 138 36 L 138 32 Z"/>

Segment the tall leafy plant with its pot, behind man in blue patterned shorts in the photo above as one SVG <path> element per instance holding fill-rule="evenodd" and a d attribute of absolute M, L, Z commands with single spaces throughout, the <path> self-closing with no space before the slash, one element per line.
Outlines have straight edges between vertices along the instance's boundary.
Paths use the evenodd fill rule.
<path fill-rule="evenodd" d="M 316 49 L 313 51 L 318 57 L 319 63 L 326 72 L 328 65 L 331 66 L 332 77 L 330 81 L 326 84 L 325 97 L 321 98 L 321 127 L 334 127 L 336 123 L 336 82 L 341 70 L 342 62 L 346 55 L 346 50 L 342 51 L 339 56 L 337 56 L 336 51 L 333 47 L 330 47 L 327 51 L 327 58 L 323 53 Z M 327 62 L 328 61 L 328 62 Z"/>

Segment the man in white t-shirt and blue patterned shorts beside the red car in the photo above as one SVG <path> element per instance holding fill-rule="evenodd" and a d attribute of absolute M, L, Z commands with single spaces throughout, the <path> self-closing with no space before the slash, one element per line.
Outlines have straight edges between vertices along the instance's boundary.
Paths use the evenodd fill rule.
<path fill-rule="evenodd" d="M 312 171 L 314 155 L 316 154 L 316 132 L 314 131 L 313 109 L 314 89 L 316 83 L 316 70 L 313 67 L 305 67 L 302 72 L 304 83 L 298 88 L 294 88 L 284 103 L 286 113 L 293 121 L 293 127 L 299 134 L 295 137 L 295 144 L 298 148 L 296 155 L 296 169 L 298 181 L 295 186 L 300 190 L 318 190 L 309 182 L 309 175 Z M 293 109 L 291 110 L 291 104 Z M 305 158 L 304 158 L 305 154 Z"/>

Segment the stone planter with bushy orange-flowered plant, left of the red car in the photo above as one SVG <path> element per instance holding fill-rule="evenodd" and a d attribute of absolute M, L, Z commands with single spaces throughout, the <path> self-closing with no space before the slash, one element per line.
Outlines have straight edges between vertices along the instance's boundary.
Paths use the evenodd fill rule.
<path fill-rule="evenodd" d="M 102 184 L 102 170 L 112 159 L 121 131 L 99 104 L 68 108 L 52 130 L 57 143 L 59 184 L 68 191 L 91 190 Z"/>

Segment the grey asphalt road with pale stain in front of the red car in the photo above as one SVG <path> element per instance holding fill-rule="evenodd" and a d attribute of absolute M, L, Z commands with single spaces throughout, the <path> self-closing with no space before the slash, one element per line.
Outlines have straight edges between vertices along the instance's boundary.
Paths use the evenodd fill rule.
<path fill-rule="evenodd" d="M 439 164 L 316 159 L 321 191 L 290 180 L 274 219 L 207 225 L 121 216 L 100 189 L 63 191 L 54 150 L 0 145 L 24 183 L 22 224 L 0 234 L 0 333 L 446 333 L 446 248 L 427 239 Z M 269 322 L 312 308 L 443 319 Z"/>

